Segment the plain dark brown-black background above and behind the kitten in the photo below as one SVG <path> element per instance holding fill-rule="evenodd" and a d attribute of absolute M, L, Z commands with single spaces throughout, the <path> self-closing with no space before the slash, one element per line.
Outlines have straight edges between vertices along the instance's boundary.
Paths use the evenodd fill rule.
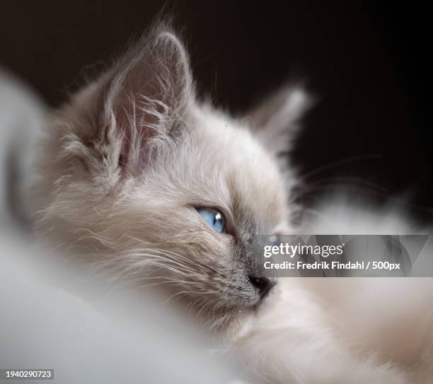
<path fill-rule="evenodd" d="M 219 105 L 241 112 L 287 79 L 308 79 L 319 102 L 294 160 L 302 173 L 321 171 L 306 179 L 307 201 L 345 182 L 378 201 L 405 197 L 420 219 L 431 219 L 429 13 L 377 3 L 195 0 L 167 1 L 166 8 L 185 27 L 200 90 Z M 162 5 L 8 2 L 0 65 L 58 105 Z"/>

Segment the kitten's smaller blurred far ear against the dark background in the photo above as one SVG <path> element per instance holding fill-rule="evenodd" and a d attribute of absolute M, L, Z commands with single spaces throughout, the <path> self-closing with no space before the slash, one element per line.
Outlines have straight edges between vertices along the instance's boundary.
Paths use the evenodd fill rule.
<path fill-rule="evenodd" d="M 246 120 L 262 144 L 276 156 L 291 149 L 299 121 L 313 100 L 299 86 L 285 86 L 253 108 Z"/>

